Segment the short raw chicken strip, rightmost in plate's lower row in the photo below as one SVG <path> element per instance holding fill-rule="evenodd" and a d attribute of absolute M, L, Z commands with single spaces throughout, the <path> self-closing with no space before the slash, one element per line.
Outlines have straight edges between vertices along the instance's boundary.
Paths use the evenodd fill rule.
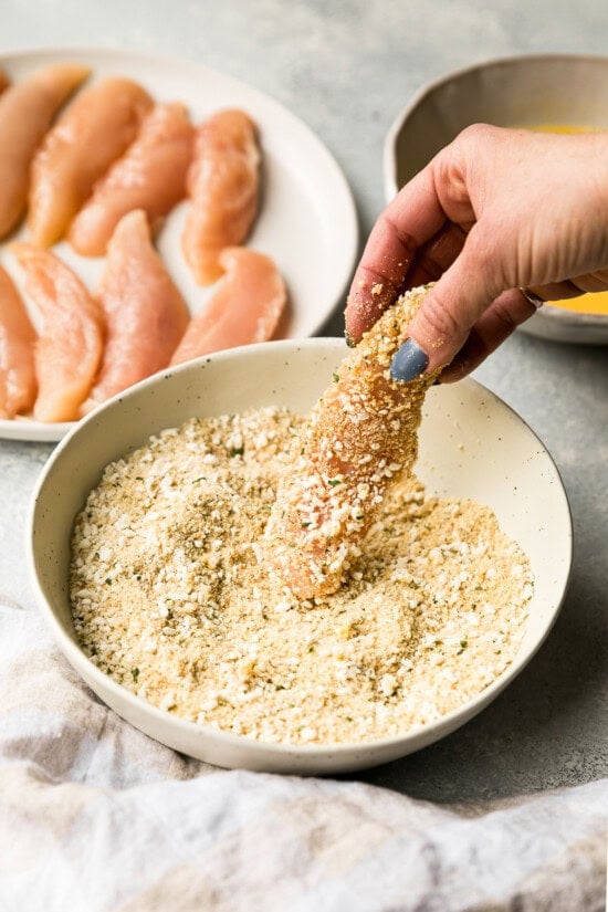
<path fill-rule="evenodd" d="M 203 310 L 190 321 L 171 364 L 220 348 L 265 342 L 279 323 L 287 293 L 270 256 L 245 247 L 229 247 L 220 255 L 220 265 L 226 275 Z"/>

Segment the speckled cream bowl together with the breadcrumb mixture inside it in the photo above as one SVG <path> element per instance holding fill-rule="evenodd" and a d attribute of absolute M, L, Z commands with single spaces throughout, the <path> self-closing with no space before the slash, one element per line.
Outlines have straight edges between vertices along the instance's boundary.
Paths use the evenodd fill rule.
<path fill-rule="evenodd" d="M 381 507 L 333 601 L 268 588 L 273 478 L 346 354 L 286 340 L 158 374 L 80 422 L 38 484 L 30 570 L 60 649 L 190 756 L 300 774 L 405 756 L 483 710 L 559 609 L 558 472 L 470 379 L 428 392 L 419 481 Z"/>

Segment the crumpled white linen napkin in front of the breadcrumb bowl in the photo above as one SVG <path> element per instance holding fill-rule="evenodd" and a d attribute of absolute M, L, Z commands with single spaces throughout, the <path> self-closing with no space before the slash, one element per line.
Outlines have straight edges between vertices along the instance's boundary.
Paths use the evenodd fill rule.
<path fill-rule="evenodd" d="M 608 779 L 475 806 L 227 772 L 81 681 L 0 605 L 3 912 L 600 912 Z"/>

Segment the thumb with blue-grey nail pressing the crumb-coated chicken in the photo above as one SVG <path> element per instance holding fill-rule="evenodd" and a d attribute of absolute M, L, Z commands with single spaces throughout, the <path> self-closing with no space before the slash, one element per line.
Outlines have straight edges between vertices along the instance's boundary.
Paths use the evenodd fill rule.
<path fill-rule="evenodd" d="M 488 276 L 490 258 L 480 255 L 473 237 L 475 228 L 457 260 L 428 291 L 409 324 L 408 336 L 390 367 L 395 380 L 413 380 L 448 365 L 478 318 L 503 291 L 500 282 Z"/>

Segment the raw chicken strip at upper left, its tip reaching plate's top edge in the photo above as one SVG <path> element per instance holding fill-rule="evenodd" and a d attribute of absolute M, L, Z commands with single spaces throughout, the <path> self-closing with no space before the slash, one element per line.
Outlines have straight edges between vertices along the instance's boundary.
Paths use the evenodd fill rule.
<path fill-rule="evenodd" d="M 25 211 L 32 158 L 55 113 L 90 72 L 87 66 L 60 63 L 0 95 L 0 238 Z"/>

